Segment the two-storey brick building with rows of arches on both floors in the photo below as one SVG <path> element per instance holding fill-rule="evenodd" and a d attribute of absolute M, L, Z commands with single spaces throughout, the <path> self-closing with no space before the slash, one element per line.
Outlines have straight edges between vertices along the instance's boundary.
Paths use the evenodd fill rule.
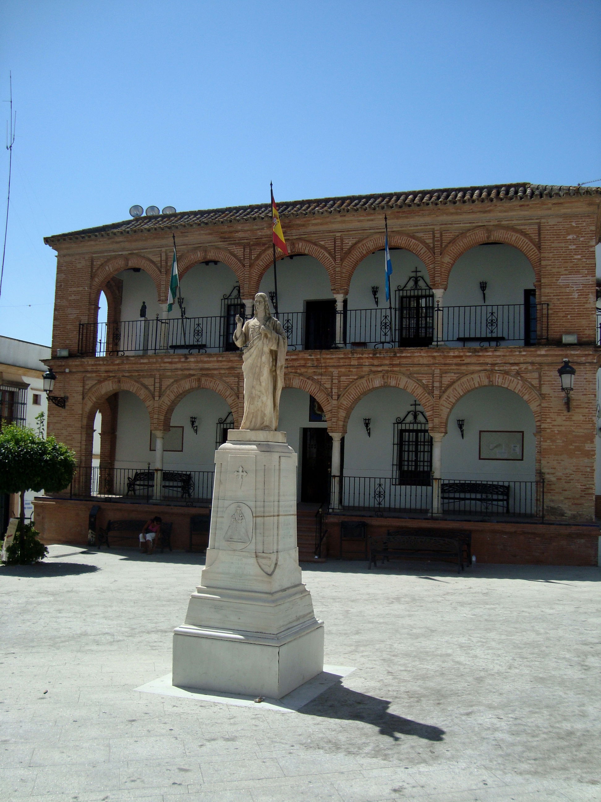
<path fill-rule="evenodd" d="M 301 553 L 313 555 L 321 510 L 330 557 L 341 520 L 374 533 L 411 519 L 471 529 L 478 561 L 596 564 L 601 190 L 515 184 L 279 208 L 290 254 L 277 263 L 280 429 L 299 454 Z M 240 425 L 232 330 L 273 290 L 269 216 L 240 206 L 46 238 L 58 254 L 54 394 L 68 396 L 49 431 L 80 466 L 69 491 L 35 502 L 46 541 L 85 543 L 98 504 L 100 525 L 159 512 L 188 546 L 216 445 Z M 184 314 L 167 312 L 172 233 Z"/>

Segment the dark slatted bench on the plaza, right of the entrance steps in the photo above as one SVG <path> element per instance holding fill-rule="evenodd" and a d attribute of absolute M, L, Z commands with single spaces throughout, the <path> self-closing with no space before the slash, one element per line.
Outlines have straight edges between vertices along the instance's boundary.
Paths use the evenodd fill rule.
<path fill-rule="evenodd" d="M 450 529 L 389 529 L 385 537 L 369 538 L 369 568 L 378 559 L 409 557 L 413 560 L 453 562 L 461 573 L 472 564 L 471 532 Z M 465 563 L 465 565 L 464 565 Z"/>

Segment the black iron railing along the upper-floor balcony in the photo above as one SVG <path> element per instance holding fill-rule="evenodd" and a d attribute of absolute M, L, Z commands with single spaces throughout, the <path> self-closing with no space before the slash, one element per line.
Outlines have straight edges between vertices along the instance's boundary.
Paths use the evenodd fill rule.
<path fill-rule="evenodd" d="M 280 312 L 290 350 L 536 345 L 549 338 L 549 305 L 437 306 L 409 336 L 405 308 Z M 599 318 L 598 318 L 599 321 Z M 425 327 L 424 327 L 425 326 Z M 409 334 L 408 334 L 409 332 Z M 597 326 L 599 341 L 599 326 Z M 236 350 L 225 316 L 80 323 L 79 354 L 124 356 Z"/>

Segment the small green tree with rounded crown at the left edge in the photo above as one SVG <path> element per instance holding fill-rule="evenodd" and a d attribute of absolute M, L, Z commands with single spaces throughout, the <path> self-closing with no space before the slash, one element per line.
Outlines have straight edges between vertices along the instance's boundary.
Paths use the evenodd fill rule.
<path fill-rule="evenodd" d="M 25 525 L 27 490 L 60 492 L 75 471 L 75 454 L 54 436 L 38 437 L 29 427 L 5 423 L 0 431 L 0 492 L 21 496 L 21 527 Z"/>

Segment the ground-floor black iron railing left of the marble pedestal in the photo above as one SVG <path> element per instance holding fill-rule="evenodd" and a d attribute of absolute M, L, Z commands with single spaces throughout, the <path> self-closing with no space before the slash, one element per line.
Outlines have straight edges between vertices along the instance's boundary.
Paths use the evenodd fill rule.
<path fill-rule="evenodd" d="M 77 468 L 69 495 L 71 498 L 115 498 L 132 501 L 179 500 L 210 501 L 213 471 L 183 468 Z"/>

